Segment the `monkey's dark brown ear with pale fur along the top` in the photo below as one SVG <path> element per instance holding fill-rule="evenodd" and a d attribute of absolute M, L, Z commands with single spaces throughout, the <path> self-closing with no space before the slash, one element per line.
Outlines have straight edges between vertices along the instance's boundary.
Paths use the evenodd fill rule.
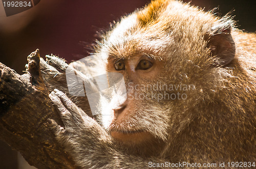
<path fill-rule="evenodd" d="M 236 46 L 231 36 L 230 24 L 218 24 L 211 27 L 205 38 L 211 56 L 216 57 L 217 65 L 224 66 L 233 60 Z"/>

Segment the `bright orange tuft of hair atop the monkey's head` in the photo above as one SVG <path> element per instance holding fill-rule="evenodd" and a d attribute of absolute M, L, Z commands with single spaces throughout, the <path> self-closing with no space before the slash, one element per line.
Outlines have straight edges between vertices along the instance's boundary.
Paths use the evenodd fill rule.
<path fill-rule="evenodd" d="M 168 0 L 155 0 L 138 12 L 137 17 L 141 26 L 154 22 L 159 17 L 159 13 L 166 8 L 167 4 Z"/>

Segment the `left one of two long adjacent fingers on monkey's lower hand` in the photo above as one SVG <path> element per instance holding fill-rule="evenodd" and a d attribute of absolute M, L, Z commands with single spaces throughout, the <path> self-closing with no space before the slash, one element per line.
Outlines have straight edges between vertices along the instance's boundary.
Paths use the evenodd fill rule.
<path fill-rule="evenodd" d="M 52 92 L 49 94 L 50 99 L 52 100 L 53 104 L 56 105 L 57 109 L 60 112 L 60 117 L 65 124 L 67 119 L 72 119 L 72 115 L 69 112 L 69 110 L 62 104 L 61 100 L 57 95 L 55 95 L 55 92 Z M 65 124 L 66 126 L 66 124 Z"/>

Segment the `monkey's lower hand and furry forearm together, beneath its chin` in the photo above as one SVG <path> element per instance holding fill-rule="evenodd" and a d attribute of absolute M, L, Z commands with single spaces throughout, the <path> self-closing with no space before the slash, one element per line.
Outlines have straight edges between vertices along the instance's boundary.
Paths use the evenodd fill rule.
<path fill-rule="evenodd" d="M 145 159 L 118 151 L 111 136 L 64 93 L 55 89 L 49 97 L 59 110 L 65 128 L 50 119 L 48 126 L 77 165 L 84 168 L 147 168 L 149 162 L 163 163 L 160 159 Z"/>

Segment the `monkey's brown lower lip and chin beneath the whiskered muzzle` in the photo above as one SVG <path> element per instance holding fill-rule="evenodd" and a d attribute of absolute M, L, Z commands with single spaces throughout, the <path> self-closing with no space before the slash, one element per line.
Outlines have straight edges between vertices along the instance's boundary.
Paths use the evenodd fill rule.
<path fill-rule="evenodd" d="M 125 144 L 140 144 L 143 142 L 148 142 L 154 138 L 154 136 L 149 132 L 123 133 L 112 131 L 111 136 L 119 142 L 123 142 Z"/>

